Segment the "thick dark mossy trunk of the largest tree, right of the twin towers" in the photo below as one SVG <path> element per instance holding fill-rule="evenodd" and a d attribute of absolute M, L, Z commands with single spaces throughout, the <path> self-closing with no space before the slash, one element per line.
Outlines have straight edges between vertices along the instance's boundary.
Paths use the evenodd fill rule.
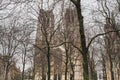
<path fill-rule="evenodd" d="M 88 49 L 86 46 L 86 38 L 84 32 L 83 25 L 83 16 L 81 11 L 81 0 L 71 0 L 73 4 L 76 6 L 78 21 L 79 21 L 79 32 L 80 32 L 80 44 L 82 49 L 82 57 L 83 57 L 83 78 L 84 80 L 89 80 L 89 69 L 88 69 Z"/>

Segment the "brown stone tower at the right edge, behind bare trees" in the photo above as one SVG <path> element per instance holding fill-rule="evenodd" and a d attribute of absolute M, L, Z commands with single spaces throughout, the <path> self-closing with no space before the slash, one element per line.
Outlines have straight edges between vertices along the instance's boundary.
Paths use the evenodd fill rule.
<path fill-rule="evenodd" d="M 114 20 L 113 20 L 114 21 Z M 106 18 L 105 32 L 115 31 L 115 23 L 110 22 L 109 18 Z M 106 51 L 106 74 L 107 80 L 112 80 L 111 72 L 113 73 L 114 80 L 120 78 L 120 37 L 119 32 L 111 32 L 105 36 L 105 51 Z"/>

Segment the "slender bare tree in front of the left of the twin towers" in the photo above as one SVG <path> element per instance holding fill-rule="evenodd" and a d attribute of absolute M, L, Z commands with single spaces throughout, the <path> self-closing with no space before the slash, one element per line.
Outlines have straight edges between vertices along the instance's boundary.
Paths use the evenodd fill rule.
<path fill-rule="evenodd" d="M 38 24 L 38 38 L 36 39 L 37 44 L 43 46 L 43 49 L 45 49 L 43 54 L 45 55 L 45 58 L 47 60 L 47 78 L 50 80 L 51 75 L 51 48 L 50 45 L 53 42 L 54 33 L 56 30 L 54 30 L 54 14 L 52 10 L 45 11 L 43 9 L 40 10 L 39 14 L 39 24 Z"/>

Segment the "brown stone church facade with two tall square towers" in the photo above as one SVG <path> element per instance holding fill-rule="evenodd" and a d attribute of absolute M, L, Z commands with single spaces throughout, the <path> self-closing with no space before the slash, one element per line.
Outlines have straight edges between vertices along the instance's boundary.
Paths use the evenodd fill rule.
<path fill-rule="evenodd" d="M 63 41 L 61 32 L 66 34 L 67 41 L 72 41 L 74 45 L 80 47 L 78 20 L 74 9 L 66 9 L 63 19 L 63 25 L 58 29 L 55 37 L 51 41 L 51 44 L 60 43 Z M 46 59 L 46 42 L 44 33 L 47 33 L 49 39 L 52 32 L 55 29 L 54 26 L 54 14 L 49 10 L 40 10 L 38 17 L 38 28 L 36 33 L 36 48 L 34 57 L 35 66 L 35 80 L 47 79 L 47 59 Z M 44 30 L 43 30 L 44 29 Z M 46 31 L 46 32 L 45 32 Z M 58 37 L 61 39 L 58 42 Z M 81 63 L 81 55 L 74 47 L 69 47 L 69 61 L 67 78 L 72 80 L 83 80 L 83 71 Z M 65 79 L 65 46 L 59 46 L 51 49 L 51 80 L 64 80 Z M 74 72 L 73 72 L 74 71 Z"/>

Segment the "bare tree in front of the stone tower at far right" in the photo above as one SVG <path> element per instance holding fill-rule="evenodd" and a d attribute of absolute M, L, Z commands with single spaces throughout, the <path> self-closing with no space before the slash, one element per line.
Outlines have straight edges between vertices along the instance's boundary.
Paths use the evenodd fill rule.
<path fill-rule="evenodd" d="M 99 11 L 106 19 L 105 20 L 106 23 L 105 23 L 105 27 L 104 27 L 105 32 L 119 30 L 119 26 L 117 25 L 118 24 L 117 16 L 119 16 L 119 13 L 118 13 L 117 9 L 114 9 L 114 8 L 116 8 L 117 5 L 114 5 L 114 7 L 111 8 L 109 4 L 113 4 L 113 3 L 112 3 L 112 1 L 108 1 L 108 0 L 99 1 L 99 3 L 101 5 L 101 8 Z M 118 0 L 117 0 L 117 3 L 119 6 Z M 117 43 L 117 45 L 119 45 L 119 41 L 118 41 L 119 35 L 120 35 L 119 32 L 109 33 L 109 34 L 105 35 L 105 39 L 104 39 L 105 40 L 105 49 L 106 49 L 105 61 L 107 61 L 106 62 L 107 67 L 109 64 L 110 73 L 111 73 L 111 76 L 109 74 L 107 74 L 107 79 L 109 79 L 111 77 L 112 80 L 115 80 L 115 76 L 114 76 L 115 72 L 113 71 L 115 69 L 113 67 L 114 66 L 113 59 L 115 58 L 115 55 L 117 55 L 119 53 L 118 46 L 115 47 L 116 43 Z M 109 47 L 109 46 L 111 46 L 111 47 Z M 117 48 L 117 50 L 116 50 L 116 48 Z M 107 67 L 106 67 L 106 69 L 107 69 Z"/>

